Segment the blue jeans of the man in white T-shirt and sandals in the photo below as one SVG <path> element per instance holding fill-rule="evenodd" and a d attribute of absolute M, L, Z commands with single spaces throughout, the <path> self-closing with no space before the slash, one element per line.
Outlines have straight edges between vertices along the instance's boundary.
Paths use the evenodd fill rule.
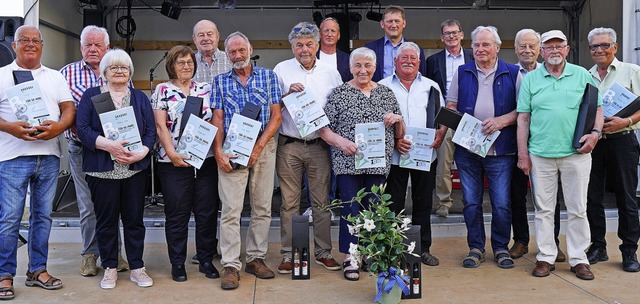
<path fill-rule="evenodd" d="M 47 268 L 51 210 L 60 159 L 54 155 L 20 156 L 0 162 L 0 276 L 16 275 L 18 233 L 27 187 L 29 201 L 28 270 Z"/>

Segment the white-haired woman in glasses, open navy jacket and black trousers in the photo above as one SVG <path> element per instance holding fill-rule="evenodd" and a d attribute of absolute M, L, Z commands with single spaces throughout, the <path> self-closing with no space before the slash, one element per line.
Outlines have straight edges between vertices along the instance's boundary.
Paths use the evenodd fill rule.
<path fill-rule="evenodd" d="M 142 253 L 143 223 L 149 151 L 156 140 L 153 110 L 149 98 L 129 87 L 133 63 L 120 49 L 107 52 L 100 62 L 103 85 L 85 91 L 78 106 L 76 127 L 83 144 L 82 169 L 86 172 L 96 212 L 96 235 L 104 277 L 100 287 L 114 288 L 118 273 L 118 220 L 122 218 L 124 244 L 131 267 L 131 281 L 141 287 L 153 285 L 147 275 Z M 100 117 L 91 97 L 108 92 L 115 109 L 132 107 L 142 139 L 142 151 L 128 151 L 126 141 L 109 139 L 102 130 Z M 107 101 L 109 102 L 109 101 Z"/>

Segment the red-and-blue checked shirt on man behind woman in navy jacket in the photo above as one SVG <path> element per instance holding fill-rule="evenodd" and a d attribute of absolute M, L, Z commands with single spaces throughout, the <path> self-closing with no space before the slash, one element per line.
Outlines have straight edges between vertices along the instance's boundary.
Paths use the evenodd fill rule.
<path fill-rule="evenodd" d="M 76 109 L 78 108 L 78 104 L 80 103 L 80 99 L 82 98 L 84 91 L 88 88 L 102 85 L 100 75 L 96 75 L 84 60 L 67 64 L 60 69 L 60 73 L 62 73 L 67 84 L 69 84 L 69 91 L 71 91 L 73 104 L 75 104 Z M 80 142 L 80 139 L 73 134 L 70 129 L 64 131 L 64 137 Z"/>

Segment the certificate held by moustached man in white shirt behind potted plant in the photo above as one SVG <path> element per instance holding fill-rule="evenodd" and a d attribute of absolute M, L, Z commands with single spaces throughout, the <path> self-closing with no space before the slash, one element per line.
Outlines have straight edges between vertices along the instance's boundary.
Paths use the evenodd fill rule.
<path fill-rule="evenodd" d="M 430 171 L 435 156 L 431 148 L 435 136 L 435 129 L 407 126 L 404 139 L 411 142 L 411 148 L 409 152 L 400 155 L 400 167 Z"/>

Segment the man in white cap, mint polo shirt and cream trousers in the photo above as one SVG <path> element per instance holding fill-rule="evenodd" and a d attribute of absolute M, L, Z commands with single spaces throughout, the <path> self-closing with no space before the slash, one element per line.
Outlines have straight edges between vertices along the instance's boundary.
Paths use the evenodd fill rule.
<path fill-rule="evenodd" d="M 572 147 L 578 110 L 587 84 L 587 70 L 568 63 L 567 37 L 558 30 L 542 34 L 539 69 L 527 74 L 518 95 L 518 167 L 531 178 L 535 195 L 535 230 L 539 253 L 533 276 L 546 277 L 555 270 L 558 248 L 553 238 L 558 176 L 567 206 L 567 255 L 571 271 L 583 280 L 594 278 L 585 251 L 589 247 L 587 186 L 591 151 L 601 136 L 602 107 L 598 106 L 591 133 Z M 598 100 L 602 104 L 602 100 Z"/>

